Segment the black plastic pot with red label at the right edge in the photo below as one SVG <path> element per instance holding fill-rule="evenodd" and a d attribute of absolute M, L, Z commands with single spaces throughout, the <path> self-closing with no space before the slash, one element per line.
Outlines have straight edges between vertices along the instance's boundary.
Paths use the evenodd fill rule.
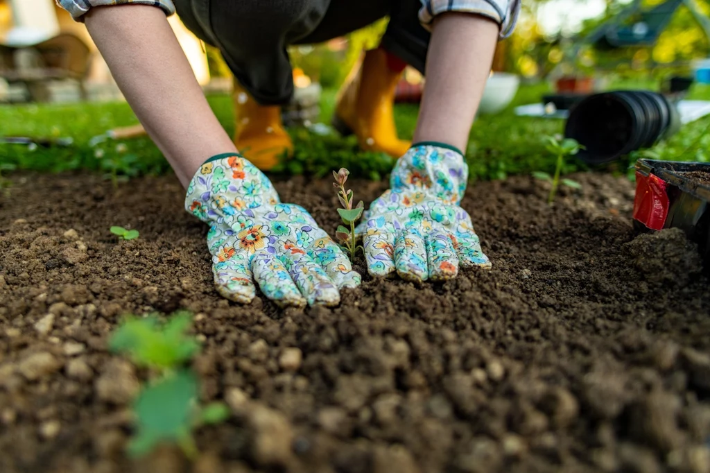
<path fill-rule="evenodd" d="M 710 268 L 710 163 L 640 159 L 633 205 L 637 229 L 682 229 Z"/>

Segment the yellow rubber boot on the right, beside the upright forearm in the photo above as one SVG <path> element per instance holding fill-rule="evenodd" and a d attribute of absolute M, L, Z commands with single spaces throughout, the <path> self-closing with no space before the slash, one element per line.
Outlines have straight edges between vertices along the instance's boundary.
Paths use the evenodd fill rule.
<path fill-rule="evenodd" d="M 393 67 L 388 53 L 366 51 L 338 94 L 332 124 L 343 135 L 355 134 L 366 151 L 383 151 L 400 158 L 410 148 L 395 129 L 395 89 L 403 65 Z"/>

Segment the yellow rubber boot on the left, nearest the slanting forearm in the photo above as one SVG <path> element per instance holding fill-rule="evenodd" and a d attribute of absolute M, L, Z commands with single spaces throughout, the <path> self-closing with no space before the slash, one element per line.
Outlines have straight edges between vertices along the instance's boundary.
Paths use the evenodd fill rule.
<path fill-rule="evenodd" d="M 259 105 L 234 81 L 234 144 L 239 153 L 261 170 L 273 168 L 286 153 L 293 156 L 293 141 L 281 122 L 281 107 Z"/>

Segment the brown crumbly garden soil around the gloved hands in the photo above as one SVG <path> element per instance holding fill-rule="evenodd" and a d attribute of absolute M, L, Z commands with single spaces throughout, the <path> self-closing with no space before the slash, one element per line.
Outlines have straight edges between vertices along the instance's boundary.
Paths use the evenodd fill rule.
<path fill-rule="evenodd" d="M 339 308 L 229 303 L 174 178 L 13 175 L 0 197 L 0 472 L 710 471 L 710 290 L 682 232 L 635 238 L 633 185 L 472 186 L 491 271 L 365 276 Z M 385 184 L 355 182 L 366 202 Z M 337 226 L 330 183 L 278 182 Z M 575 191 L 576 192 L 576 191 Z M 117 242 L 111 225 L 141 231 Z M 72 231 L 73 230 L 73 231 Z M 131 462 L 146 373 L 107 352 L 124 312 L 196 314 L 202 455 Z M 288 350 L 290 349 L 290 350 Z M 297 350 L 293 350 L 297 349 Z M 302 354 L 302 360 L 298 354 Z"/>

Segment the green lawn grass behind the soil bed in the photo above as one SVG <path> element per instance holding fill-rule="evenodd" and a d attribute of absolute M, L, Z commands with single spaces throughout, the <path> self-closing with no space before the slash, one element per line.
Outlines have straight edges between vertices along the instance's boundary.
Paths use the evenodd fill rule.
<path fill-rule="evenodd" d="M 466 158 L 472 180 L 504 179 L 508 175 L 532 171 L 552 172 L 555 157 L 545 151 L 542 136 L 561 133 L 564 121 L 518 117 L 513 107 L 537 102 L 547 92 L 547 84 L 525 85 L 513 104 L 501 114 L 479 116 L 471 129 Z M 335 102 L 334 90 L 325 90 L 321 101 L 324 123 L 329 122 Z M 710 97 L 710 87 L 694 86 L 690 98 Z M 233 131 L 231 100 L 226 96 L 209 97 L 215 114 L 229 134 Z M 395 120 L 400 135 L 411 138 L 417 120 L 417 106 L 398 105 Z M 59 172 L 64 170 L 96 170 L 116 178 L 140 174 L 170 172 L 170 167 L 158 148 L 148 138 L 106 141 L 89 146 L 93 136 L 116 126 L 136 124 L 136 116 L 123 102 L 108 104 L 21 105 L 0 107 L 0 123 L 5 136 L 71 137 L 68 147 L 29 148 L 0 144 L 1 163 L 26 170 Z M 659 158 L 709 161 L 710 118 L 684 126 L 682 131 L 656 146 L 652 152 Z M 359 151 L 356 140 L 335 134 L 320 136 L 305 129 L 292 130 L 295 158 L 283 163 L 287 173 L 325 175 L 331 169 L 346 167 L 354 175 L 381 179 L 391 169 L 393 161 L 379 153 Z M 626 164 L 617 165 L 623 171 Z M 563 170 L 569 173 L 583 169 L 571 161 Z"/>

